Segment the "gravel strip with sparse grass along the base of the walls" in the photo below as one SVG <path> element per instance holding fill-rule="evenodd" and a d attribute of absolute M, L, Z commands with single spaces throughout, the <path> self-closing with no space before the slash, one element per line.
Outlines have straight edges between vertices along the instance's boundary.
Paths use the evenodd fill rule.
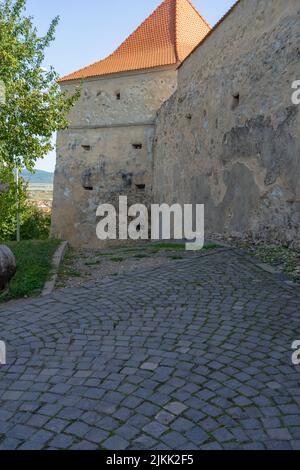
<path fill-rule="evenodd" d="M 216 240 L 216 238 L 214 238 Z M 208 242 L 203 254 L 222 247 L 240 248 L 257 261 L 267 263 L 290 280 L 300 284 L 300 252 L 276 245 L 254 244 L 240 240 L 217 239 Z M 197 253 L 199 254 L 199 253 Z M 144 243 L 107 250 L 70 249 L 60 269 L 57 288 L 76 287 L 87 281 L 114 278 L 124 273 L 176 263 L 196 256 L 183 243 Z"/>

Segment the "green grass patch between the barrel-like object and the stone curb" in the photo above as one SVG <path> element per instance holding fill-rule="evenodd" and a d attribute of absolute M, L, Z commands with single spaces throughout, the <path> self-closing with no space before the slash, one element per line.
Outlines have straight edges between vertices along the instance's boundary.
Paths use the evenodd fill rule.
<path fill-rule="evenodd" d="M 59 243 L 57 240 L 5 242 L 16 257 L 17 272 L 9 292 L 0 296 L 0 302 L 38 295 L 49 278 Z"/>

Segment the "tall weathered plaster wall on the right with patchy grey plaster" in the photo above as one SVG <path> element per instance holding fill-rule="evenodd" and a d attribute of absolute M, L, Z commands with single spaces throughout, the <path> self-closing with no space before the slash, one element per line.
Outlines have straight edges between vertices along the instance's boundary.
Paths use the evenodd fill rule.
<path fill-rule="evenodd" d="M 206 230 L 298 244 L 299 0 L 242 0 L 162 106 L 154 200 L 205 203 Z"/>

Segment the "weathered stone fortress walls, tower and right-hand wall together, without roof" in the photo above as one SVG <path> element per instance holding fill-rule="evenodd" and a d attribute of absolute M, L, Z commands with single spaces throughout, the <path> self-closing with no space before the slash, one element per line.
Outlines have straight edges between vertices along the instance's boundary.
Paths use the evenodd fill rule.
<path fill-rule="evenodd" d="M 52 235 L 102 246 L 96 209 L 127 195 L 205 204 L 207 235 L 300 246 L 295 80 L 299 0 L 240 0 L 178 70 L 84 80 L 58 135 Z"/>

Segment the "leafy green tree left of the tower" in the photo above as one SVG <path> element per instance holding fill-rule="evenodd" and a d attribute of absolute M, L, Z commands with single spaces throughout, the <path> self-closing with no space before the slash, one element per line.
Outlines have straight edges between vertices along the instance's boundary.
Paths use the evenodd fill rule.
<path fill-rule="evenodd" d="M 67 115 L 79 97 L 60 90 L 54 68 L 42 68 L 59 18 L 43 37 L 26 16 L 26 0 L 0 0 L 0 163 L 34 168 L 52 149 L 52 135 L 67 127 Z"/>

